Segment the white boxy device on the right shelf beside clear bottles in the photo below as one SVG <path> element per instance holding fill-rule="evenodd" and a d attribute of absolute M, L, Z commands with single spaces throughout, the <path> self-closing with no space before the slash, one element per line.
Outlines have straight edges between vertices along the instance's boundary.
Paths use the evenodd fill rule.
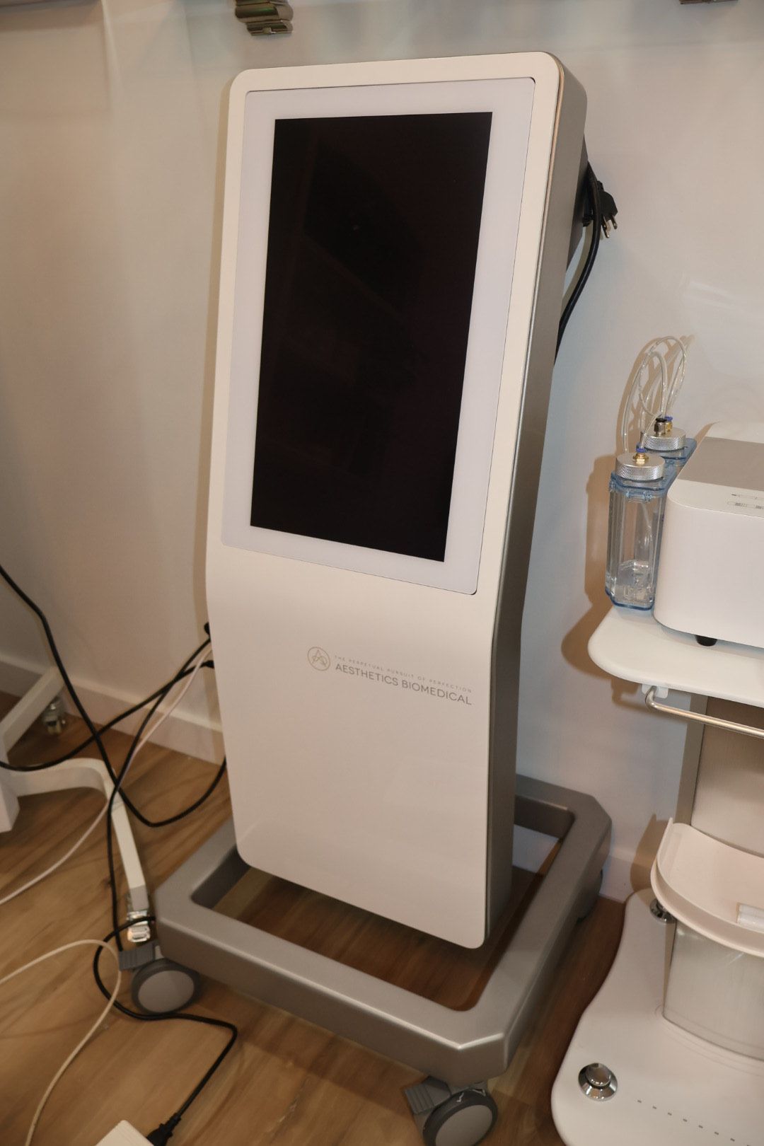
<path fill-rule="evenodd" d="M 717 422 L 669 487 L 656 619 L 764 647 L 764 423 Z"/>

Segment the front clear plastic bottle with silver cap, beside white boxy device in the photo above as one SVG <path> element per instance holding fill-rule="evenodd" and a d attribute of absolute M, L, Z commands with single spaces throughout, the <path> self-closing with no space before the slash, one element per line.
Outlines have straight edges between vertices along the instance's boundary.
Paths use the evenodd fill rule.
<path fill-rule="evenodd" d="M 614 605 L 653 607 L 665 492 L 676 476 L 659 454 L 638 446 L 619 454 L 611 474 L 605 589 Z"/>

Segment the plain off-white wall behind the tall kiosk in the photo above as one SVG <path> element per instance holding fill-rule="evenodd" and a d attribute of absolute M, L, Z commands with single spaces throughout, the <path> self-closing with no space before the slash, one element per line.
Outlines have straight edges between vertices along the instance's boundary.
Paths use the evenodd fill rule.
<path fill-rule="evenodd" d="M 684 733 L 585 654 L 606 610 L 615 416 L 639 348 L 693 332 L 680 421 L 764 418 L 764 5 L 294 7 L 294 34 L 263 41 L 229 0 L 0 8 L 0 559 L 48 611 L 99 715 L 197 641 L 220 100 L 237 71 L 556 53 L 589 93 L 590 154 L 621 228 L 554 374 L 520 764 L 601 800 L 615 823 L 607 888 L 624 893 L 640 840 L 649 850 L 672 810 Z M 0 685 L 44 659 L 1 592 Z M 213 711 L 208 692 L 186 714 L 204 725 Z"/>

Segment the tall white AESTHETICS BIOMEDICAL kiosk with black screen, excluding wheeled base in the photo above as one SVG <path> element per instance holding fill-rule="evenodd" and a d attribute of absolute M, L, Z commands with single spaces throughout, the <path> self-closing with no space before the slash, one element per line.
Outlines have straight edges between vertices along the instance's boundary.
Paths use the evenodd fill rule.
<path fill-rule="evenodd" d="M 237 847 L 465 947 L 510 888 L 584 117 L 542 54 L 230 93 L 207 601 Z"/>

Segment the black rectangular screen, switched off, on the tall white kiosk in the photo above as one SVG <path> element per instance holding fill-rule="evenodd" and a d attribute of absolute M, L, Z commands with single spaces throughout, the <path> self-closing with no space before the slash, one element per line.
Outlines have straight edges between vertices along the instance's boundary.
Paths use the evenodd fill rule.
<path fill-rule="evenodd" d="M 276 121 L 253 526 L 444 559 L 490 127 Z"/>

